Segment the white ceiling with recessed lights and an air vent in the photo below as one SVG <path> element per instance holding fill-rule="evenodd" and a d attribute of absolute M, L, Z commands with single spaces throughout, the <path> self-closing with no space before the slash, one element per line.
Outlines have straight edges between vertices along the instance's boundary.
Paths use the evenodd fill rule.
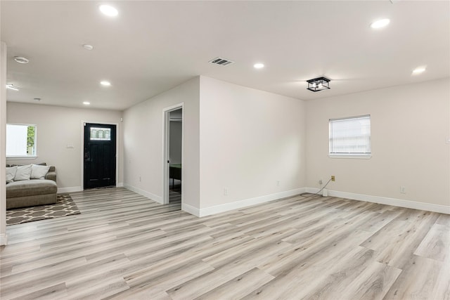
<path fill-rule="evenodd" d="M 115 18 L 101 4 L 1 1 L 9 101 L 124 110 L 200 74 L 302 100 L 450 76 L 449 1 L 111 1 Z M 307 91 L 321 76 L 331 89 Z"/>

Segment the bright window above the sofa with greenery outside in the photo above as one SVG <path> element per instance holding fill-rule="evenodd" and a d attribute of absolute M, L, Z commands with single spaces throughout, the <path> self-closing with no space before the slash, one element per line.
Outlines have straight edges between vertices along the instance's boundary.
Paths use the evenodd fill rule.
<path fill-rule="evenodd" d="M 6 157 L 36 157 L 36 125 L 6 124 Z"/>

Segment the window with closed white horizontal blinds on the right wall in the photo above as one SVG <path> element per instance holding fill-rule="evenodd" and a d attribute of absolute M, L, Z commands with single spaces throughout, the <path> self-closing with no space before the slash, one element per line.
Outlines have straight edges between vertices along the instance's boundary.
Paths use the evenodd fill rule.
<path fill-rule="evenodd" d="M 371 157 L 371 116 L 330 119 L 330 157 Z"/>

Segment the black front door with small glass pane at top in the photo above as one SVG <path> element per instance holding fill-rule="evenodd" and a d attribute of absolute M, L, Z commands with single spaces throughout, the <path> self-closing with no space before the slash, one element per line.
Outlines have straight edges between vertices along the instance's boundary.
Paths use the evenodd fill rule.
<path fill-rule="evenodd" d="M 84 124 L 84 188 L 115 185 L 115 127 Z"/>

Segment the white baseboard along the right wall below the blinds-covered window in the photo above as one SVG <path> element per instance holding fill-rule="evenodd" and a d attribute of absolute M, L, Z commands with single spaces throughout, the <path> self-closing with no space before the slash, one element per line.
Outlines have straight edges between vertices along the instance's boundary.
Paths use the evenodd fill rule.
<path fill-rule="evenodd" d="M 307 188 L 306 190 L 307 190 L 307 193 L 317 193 L 319 191 L 319 188 Z M 439 205 L 439 204 L 423 203 L 423 202 L 401 200 L 401 199 L 395 199 L 395 198 L 389 198 L 389 197 L 371 196 L 371 195 L 364 195 L 364 194 L 347 193 L 347 192 L 340 192 L 338 190 L 328 190 L 328 196 L 329 197 L 341 197 L 341 198 L 366 201 L 366 202 L 373 202 L 373 203 L 379 203 L 379 204 L 387 204 L 387 205 L 392 205 L 394 207 L 406 207 L 409 209 L 435 211 L 435 212 L 439 212 L 441 214 L 450 214 L 450 207 L 447 207 L 445 205 Z"/>

